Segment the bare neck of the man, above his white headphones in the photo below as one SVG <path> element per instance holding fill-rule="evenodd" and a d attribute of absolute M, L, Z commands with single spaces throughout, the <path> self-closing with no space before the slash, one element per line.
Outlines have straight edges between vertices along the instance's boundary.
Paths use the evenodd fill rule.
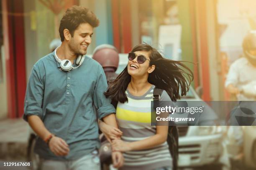
<path fill-rule="evenodd" d="M 60 60 L 69 60 L 72 62 L 72 64 L 77 58 L 77 55 L 70 50 L 69 46 L 65 42 L 62 42 L 61 46 L 56 50 L 56 55 Z"/>

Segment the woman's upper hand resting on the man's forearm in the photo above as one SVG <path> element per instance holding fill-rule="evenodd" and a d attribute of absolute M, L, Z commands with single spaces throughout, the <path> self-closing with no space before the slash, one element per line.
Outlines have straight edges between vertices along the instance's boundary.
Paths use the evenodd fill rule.
<path fill-rule="evenodd" d="M 99 127 L 107 140 L 111 143 L 111 140 L 120 139 L 123 132 L 118 128 L 107 125 L 105 122 L 99 120 Z"/>

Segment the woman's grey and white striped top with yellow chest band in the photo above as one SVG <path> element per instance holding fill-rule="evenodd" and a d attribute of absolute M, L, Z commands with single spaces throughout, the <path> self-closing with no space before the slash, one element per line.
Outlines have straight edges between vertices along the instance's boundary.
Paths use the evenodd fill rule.
<path fill-rule="evenodd" d="M 116 117 L 122 140 L 134 142 L 149 138 L 156 134 L 156 126 L 151 126 L 151 101 L 153 100 L 154 85 L 143 96 L 133 96 L 127 90 L 128 102 L 118 102 Z M 154 170 L 172 166 L 172 158 L 167 142 L 154 148 L 130 151 L 123 154 L 125 163 L 120 170 Z"/>

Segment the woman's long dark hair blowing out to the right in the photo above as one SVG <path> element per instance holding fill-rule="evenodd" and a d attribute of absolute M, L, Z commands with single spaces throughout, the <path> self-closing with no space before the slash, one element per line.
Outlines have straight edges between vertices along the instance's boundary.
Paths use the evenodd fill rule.
<path fill-rule="evenodd" d="M 187 94 L 194 76 L 192 71 L 182 61 L 168 60 L 148 44 L 136 45 L 131 52 L 136 51 L 150 52 L 150 65 L 155 65 L 155 70 L 148 75 L 149 83 L 165 90 L 172 101 L 176 101 L 181 96 Z M 105 96 L 111 98 L 114 105 L 118 101 L 121 103 L 127 102 L 128 98 L 125 90 L 129 82 L 131 82 L 131 75 L 128 74 L 126 66 L 120 75 L 110 83 Z M 181 90 L 180 93 L 179 90 Z"/>

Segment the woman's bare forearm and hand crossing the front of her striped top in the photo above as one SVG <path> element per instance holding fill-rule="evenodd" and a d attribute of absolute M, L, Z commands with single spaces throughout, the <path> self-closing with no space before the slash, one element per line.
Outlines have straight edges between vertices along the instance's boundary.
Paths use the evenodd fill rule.
<path fill-rule="evenodd" d="M 124 142 L 123 140 L 113 140 L 114 151 L 145 150 L 164 143 L 167 140 L 168 126 L 156 126 L 156 135 L 136 142 Z"/>

